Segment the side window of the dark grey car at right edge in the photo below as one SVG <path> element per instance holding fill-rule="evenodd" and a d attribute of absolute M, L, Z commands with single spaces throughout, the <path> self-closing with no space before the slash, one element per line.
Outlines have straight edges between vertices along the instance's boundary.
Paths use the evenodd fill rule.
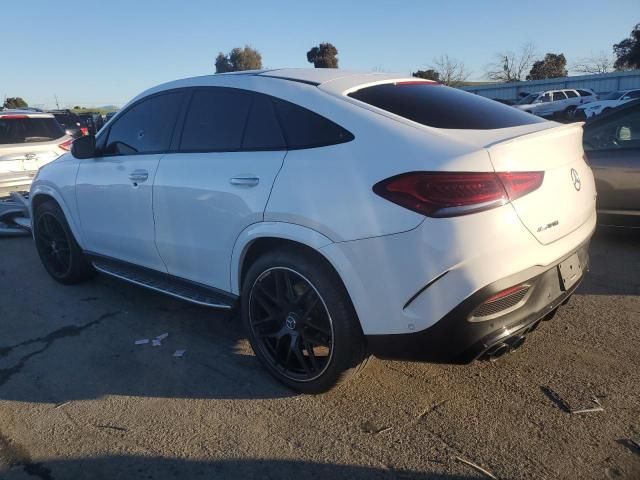
<path fill-rule="evenodd" d="M 585 128 L 584 149 L 640 149 L 640 108 L 609 116 Z"/>

